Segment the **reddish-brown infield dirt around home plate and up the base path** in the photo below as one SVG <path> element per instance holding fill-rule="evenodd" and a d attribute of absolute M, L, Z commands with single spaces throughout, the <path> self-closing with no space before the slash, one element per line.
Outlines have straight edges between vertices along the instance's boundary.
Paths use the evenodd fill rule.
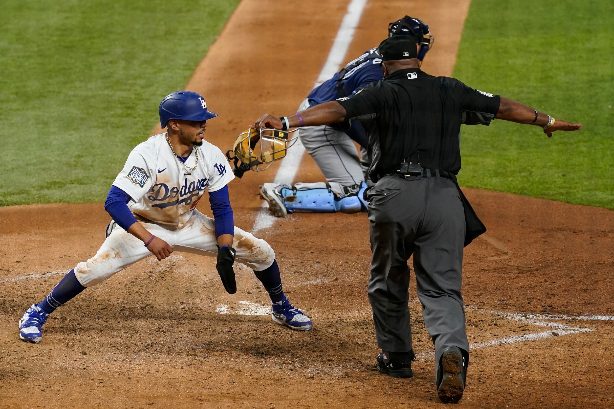
<path fill-rule="evenodd" d="M 219 117 L 222 150 L 264 112 L 293 112 L 321 72 L 348 1 L 244 0 L 187 88 Z M 449 75 L 468 1 L 369 0 L 343 62 L 405 14 L 437 36 L 423 69 Z M 257 16 L 257 18 L 255 18 Z M 292 16 L 292 19 L 288 17 Z M 169 90 L 171 91 L 171 90 Z M 230 184 L 235 224 L 251 229 L 258 185 L 279 164 Z M 308 156 L 297 181 L 323 180 Z M 614 213 L 464 189 L 489 231 L 465 248 L 473 345 L 464 407 L 612 407 Z M 207 201 L 199 208 L 209 213 Z M 293 332 L 262 315 L 268 297 L 236 268 L 228 295 L 214 259 L 149 258 L 58 309 L 39 345 L 17 321 L 104 240 L 102 204 L 0 208 L 0 407 L 429 407 L 432 343 L 411 281 L 414 377 L 375 370 L 365 213 L 289 215 L 258 232 L 284 289 L 313 319 Z M 562 318 L 561 318 L 562 317 Z"/>

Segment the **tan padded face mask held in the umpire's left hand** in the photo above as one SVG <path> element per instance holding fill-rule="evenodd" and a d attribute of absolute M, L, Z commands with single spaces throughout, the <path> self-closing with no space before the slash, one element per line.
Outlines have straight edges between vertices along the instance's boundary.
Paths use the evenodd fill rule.
<path fill-rule="evenodd" d="M 279 129 L 249 127 L 241 132 L 235 140 L 233 150 L 226 152 L 229 161 L 233 161 L 233 173 L 236 177 L 242 177 L 247 170 L 260 172 L 267 169 L 271 164 L 286 156 L 287 148 L 292 147 L 297 141 L 294 138 L 288 141 L 290 133 L 296 131 L 279 131 Z M 235 156 L 231 156 L 231 152 Z"/>

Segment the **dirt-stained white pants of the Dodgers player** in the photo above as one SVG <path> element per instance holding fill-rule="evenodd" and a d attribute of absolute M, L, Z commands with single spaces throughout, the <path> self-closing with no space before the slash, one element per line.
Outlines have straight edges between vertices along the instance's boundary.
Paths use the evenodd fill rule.
<path fill-rule="evenodd" d="M 192 210 L 191 213 L 185 226 L 176 230 L 173 230 L 173 226 L 163 224 L 139 223 L 151 234 L 173 246 L 173 253 L 185 251 L 201 256 L 217 256 L 216 227 L 213 219 L 198 210 Z M 233 247 L 236 250 L 236 261 L 256 271 L 267 269 L 275 259 L 273 249 L 265 240 L 256 239 L 251 233 L 236 226 Z M 91 287 L 149 256 L 153 254 L 141 240 L 112 223 L 98 253 L 88 261 L 77 264 L 75 275 L 81 285 Z"/>

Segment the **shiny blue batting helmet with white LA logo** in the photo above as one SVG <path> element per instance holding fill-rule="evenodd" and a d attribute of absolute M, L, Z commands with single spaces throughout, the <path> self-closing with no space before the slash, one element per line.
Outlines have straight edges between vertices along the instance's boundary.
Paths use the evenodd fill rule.
<path fill-rule="evenodd" d="M 207 109 L 201 94 L 192 91 L 177 91 L 168 94 L 160 102 L 160 126 L 165 128 L 169 120 L 206 121 L 217 117 Z"/>

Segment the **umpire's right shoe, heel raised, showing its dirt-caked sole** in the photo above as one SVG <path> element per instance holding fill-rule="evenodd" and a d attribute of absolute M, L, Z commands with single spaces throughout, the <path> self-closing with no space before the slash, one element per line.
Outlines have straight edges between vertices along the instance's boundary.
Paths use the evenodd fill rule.
<path fill-rule="evenodd" d="M 461 400 L 467 381 L 467 364 L 467 359 L 457 346 L 450 346 L 443 352 L 437 379 L 437 394 L 441 402 L 456 403 Z"/>

